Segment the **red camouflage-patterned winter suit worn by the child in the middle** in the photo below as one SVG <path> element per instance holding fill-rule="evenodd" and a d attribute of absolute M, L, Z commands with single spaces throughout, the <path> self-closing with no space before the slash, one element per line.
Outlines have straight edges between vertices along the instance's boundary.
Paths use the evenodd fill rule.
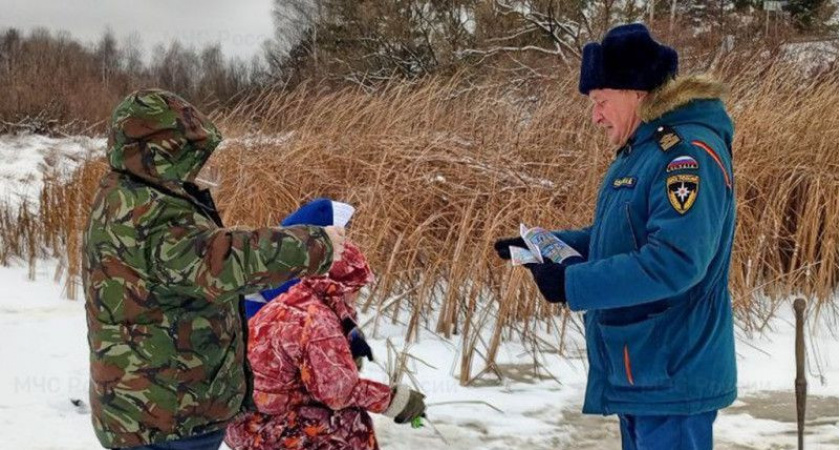
<path fill-rule="evenodd" d="M 306 277 L 249 322 L 248 361 L 258 412 L 237 417 L 234 450 L 378 449 L 368 412 L 381 413 L 391 388 L 359 378 L 341 321 L 356 320 L 355 294 L 373 281 L 347 243 L 327 276 Z"/>

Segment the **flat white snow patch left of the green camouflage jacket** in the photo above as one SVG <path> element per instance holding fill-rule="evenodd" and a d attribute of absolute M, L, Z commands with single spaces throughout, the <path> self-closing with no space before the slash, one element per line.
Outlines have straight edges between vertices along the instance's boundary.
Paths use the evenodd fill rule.
<path fill-rule="evenodd" d="M 23 268 L 0 269 L 0 448 L 93 449 L 87 400 L 84 304 L 61 298 L 55 264 L 36 281 Z"/>

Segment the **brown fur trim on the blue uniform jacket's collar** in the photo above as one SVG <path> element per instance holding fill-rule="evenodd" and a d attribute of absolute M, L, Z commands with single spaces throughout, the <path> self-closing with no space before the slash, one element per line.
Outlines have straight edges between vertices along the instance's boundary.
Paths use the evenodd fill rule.
<path fill-rule="evenodd" d="M 680 77 L 651 91 L 639 107 L 644 122 L 656 120 L 693 100 L 724 100 L 728 89 L 706 75 Z"/>

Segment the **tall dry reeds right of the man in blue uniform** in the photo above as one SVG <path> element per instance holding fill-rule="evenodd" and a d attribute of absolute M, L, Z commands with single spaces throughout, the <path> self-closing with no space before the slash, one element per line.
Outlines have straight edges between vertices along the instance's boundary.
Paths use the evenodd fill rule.
<path fill-rule="evenodd" d="M 753 302 L 756 291 L 824 300 L 837 295 L 837 68 L 793 75 L 767 63 L 747 64 L 737 69 L 736 80 L 754 81 L 732 84 L 735 307 L 770 308 L 744 316 L 751 326 L 763 326 L 775 307 Z M 836 314 L 836 301 L 815 306 L 829 306 Z"/>

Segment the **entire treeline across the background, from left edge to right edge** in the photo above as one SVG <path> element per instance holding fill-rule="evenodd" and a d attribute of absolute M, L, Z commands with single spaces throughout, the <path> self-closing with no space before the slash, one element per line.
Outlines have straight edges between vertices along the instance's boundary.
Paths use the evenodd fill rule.
<path fill-rule="evenodd" d="M 785 43 L 837 37 L 836 3 L 791 0 L 275 0 L 275 36 L 250 61 L 219 45 L 158 44 L 105 32 L 93 45 L 44 29 L 0 30 L 0 134 L 99 133 L 139 87 L 178 92 L 205 111 L 253 105 L 304 83 L 366 91 L 428 76 L 528 84 L 574 74 L 583 46 L 618 23 L 645 22 L 684 71 L 732 51 L 779 57 Z M 836 60 L 836 45 L 834 58 Z"/>

